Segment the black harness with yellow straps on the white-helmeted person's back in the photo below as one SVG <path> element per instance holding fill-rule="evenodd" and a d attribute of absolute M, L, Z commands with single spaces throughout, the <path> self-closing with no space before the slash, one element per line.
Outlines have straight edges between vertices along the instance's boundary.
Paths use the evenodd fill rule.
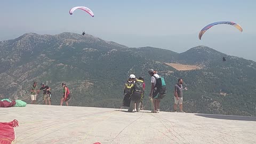
<path fill-rule="evenodd" d="M 131 94 L 132 94 L 132 88 L 134 86 L 134 82 L 127 81 L 125 83 L 125 89 L 124 89 L 124 99 L 123 99 L 123 106 L 124 107 L 130 107 L 131 103 Z"/>

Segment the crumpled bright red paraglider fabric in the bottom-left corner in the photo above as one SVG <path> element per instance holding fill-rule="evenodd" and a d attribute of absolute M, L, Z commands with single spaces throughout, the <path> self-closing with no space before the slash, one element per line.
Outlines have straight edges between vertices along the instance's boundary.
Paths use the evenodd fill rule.
<path fill-rule="evenodd" d="M 19 122 L 14 119 L 9 123 L 0 122 L 0 143 L 10 144 L 15 140 L 15 131 L 13 127 L 19 126 Z"/>

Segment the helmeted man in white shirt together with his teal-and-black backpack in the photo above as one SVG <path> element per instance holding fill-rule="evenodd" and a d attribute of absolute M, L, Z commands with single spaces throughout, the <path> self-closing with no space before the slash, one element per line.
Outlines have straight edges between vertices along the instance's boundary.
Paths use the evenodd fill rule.
<path fill-rule="evenodd" d="M 159 113 L 160 100 L 166 94 L 164 78 L 160 77 L 157 71 L 153 69 L 149 69 L 148 74 L 151 76 L 151 91 L 149 97 L 153 99 L 152 113 Z"/>

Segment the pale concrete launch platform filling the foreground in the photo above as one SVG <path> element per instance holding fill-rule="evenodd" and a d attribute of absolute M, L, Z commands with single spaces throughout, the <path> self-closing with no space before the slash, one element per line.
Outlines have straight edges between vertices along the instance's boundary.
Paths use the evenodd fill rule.
<path fill-rule="evenodd" d="M 27 105 L 0 122 L 19 121 L 14 143 L 256 143 L 256 117 L 126 110 Z"/>

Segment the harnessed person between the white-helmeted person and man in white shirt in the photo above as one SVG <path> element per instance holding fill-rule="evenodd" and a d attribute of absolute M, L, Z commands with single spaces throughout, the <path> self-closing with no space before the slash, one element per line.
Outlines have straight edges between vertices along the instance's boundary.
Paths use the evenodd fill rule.
<path fill-rule="evenodd" d="M 136 103 L 137 112 L 140 111 L 141 97 L 142 97 L 142 93 L 144 91 L 143 87 L 144 87 L 143 78 L 140 77 L 139 79 L 136 79 L 134 82 L 134 86 L 132 88 L 131 103 L 130 103 L 130 107 L 128 109 L 129 112 L 133 111 L 134 103 Z"/>

